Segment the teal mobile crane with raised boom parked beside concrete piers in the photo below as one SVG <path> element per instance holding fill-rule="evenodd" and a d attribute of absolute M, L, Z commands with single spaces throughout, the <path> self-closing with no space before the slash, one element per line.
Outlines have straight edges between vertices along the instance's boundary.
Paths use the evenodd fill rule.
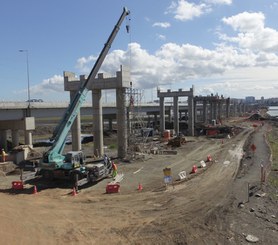
<path fill-rule="evenodd" d="M 78 115 L 89 90 L 87 84 L 90 79 L 96 77 L 110 47 L 115 39 L 125 17 L 130 14 L 127 8 L 123 12 L 105 43 L 98 59 L 96 60 L 86 81 L 80 85 L 74 99 L 70 102 L 62 120 L 53 132 L 53 145 L 43 154 L 39 163 L 39 174 L 46 179 L 63 178 L 74 181 L 75 188 L 78 188 L 78 181 L 85 179 L 87 182 L 96 182 L 107 177 L 112 171 L 110 159 L 105 156 L 103 163 L 90 166 L 85 164 L 85 156 L 82 151 L 70 151 L 63 154 L 66 138 L 71 126 Z M 84 181 L 83 181 L 84 182 Z"/>

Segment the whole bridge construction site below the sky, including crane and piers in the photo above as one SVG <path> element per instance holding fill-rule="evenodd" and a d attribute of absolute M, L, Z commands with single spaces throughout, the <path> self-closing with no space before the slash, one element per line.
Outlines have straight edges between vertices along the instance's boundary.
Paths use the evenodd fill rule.
<path fill-rule="evenodd" d="M 194 85 L 157 89 L 143 109 L 128 67 L 99 73 L 127 15 L 88 76 L 64 72 L 61 117 L 30 103 L 0 110 L 2 243 L 277 244 L 277 118 Z"/>

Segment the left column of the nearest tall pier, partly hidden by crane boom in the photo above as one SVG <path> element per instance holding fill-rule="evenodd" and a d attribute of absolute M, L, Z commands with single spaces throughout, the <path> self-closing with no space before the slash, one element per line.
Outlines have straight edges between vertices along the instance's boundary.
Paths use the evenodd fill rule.
<path fill-rule="evenodd" d="M 76 91 L 70 91 L 70 100 L 72 101 L 75 97 Z M 72 150 L 80 151 L 81 146 L 81 122 L 80 112 L 77 114 L 72 126 L 71 126 L 71 137 L 72 137 Z"/>

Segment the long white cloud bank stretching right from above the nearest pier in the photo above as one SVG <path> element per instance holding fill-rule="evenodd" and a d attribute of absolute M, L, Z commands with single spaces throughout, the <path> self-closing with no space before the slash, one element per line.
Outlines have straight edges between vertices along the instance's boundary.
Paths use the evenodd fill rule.
<path fill-rule="evenodd" d="M 90 57 L 92 56 L 87 59 L 83 57 L 81 63 L 84 67 L 89 67 L 92 61 Z M 190 44 L 166 43 L 154 54 L 150 54 L 140 44 L 131 43 L 126 51 L 112 51 L 102 65 L 102 72 L 114 74 L 119 70 L 120 65 L 131 66 L 135 87 L 148 89 L 171 86 L 192 79 L 198 81 L 220 77 L 229 71 L 248 69 L 248 67 L 278 65 L 278 57 L 263 52 L 254 54 L 250 50 L 236 49 L 224 44 L 209 50 Z M 82 67 L 81 69 L 84 70 Z M 230 80 L 231 78 L 227 81 Z M 223 87 L 217 88 L 222 90 L 230 88 L 230 92 L 233 88 L 239 89 L 236 84 L 229 87 L 226 83 L 221 86 Z M 211 88 L 213 89 L 213 86 Z"/>

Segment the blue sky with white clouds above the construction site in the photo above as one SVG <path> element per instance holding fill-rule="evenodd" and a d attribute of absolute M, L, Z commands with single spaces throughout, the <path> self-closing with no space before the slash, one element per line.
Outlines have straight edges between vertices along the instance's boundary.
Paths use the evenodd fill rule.
<path fill-rule="evenodd" d="M 31 99 L 68 101 L 63 72 L 90 73 L 123 7 L 130 15 L 99 72 L 130 67 L 144 101 L 156 100 L 158 88 L 192 86 L 202 96 L 278 97 L 278 0 L 9 0 L 0 7 L 0 101 L 26 101 L 28 80 Z M 109 100 L 115 92 L 103 93 Z"/>

